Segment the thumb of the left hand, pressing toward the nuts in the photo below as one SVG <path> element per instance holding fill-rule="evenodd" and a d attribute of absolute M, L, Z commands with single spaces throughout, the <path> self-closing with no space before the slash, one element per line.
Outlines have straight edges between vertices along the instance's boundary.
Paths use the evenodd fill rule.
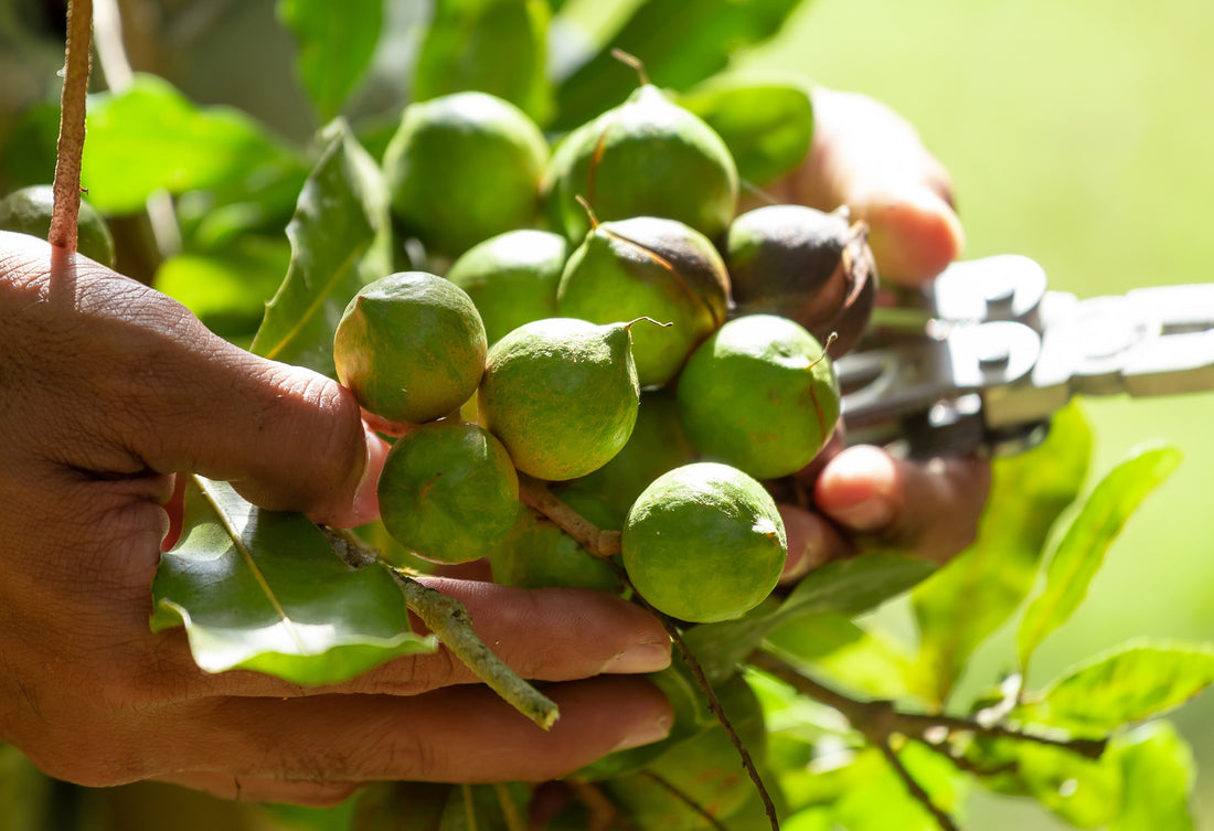
<path fill-rule="evenodd" d="M 45 301 L 17 325 L 58 347 L 27 358 L 39 378 L 30 394 L 52 391 L 38 403 L 55 416 L 51 440 L 83 456 L 72 466 L 193 471 L 232 480 L 262 507 L 331 524 L 368 518 L 384 449 L 348 389 L 228 343 L 176 301 L 85 257 L 52 263 L 50 245 L 22 234 L 4 245 L 6 279 Z"/>

